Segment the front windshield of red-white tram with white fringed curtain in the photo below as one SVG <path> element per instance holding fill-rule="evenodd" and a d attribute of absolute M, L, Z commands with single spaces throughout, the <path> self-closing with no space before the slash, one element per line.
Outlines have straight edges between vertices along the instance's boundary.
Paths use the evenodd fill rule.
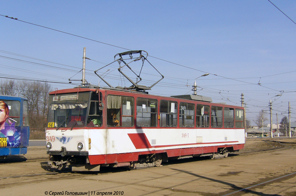
<path fill-rule="evenodd" d="M 82 127 L 87 122 L 90 92 L 58 94 L 49 97 L 48 127 Z"/>

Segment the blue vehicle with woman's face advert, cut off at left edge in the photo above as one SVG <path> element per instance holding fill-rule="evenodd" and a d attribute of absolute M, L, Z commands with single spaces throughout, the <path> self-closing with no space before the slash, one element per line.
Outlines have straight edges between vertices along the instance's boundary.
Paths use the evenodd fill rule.
<path fill-rule="evenodd" d="M 0 159 L 27 153 L 28 99 L 0 95 Z"/>

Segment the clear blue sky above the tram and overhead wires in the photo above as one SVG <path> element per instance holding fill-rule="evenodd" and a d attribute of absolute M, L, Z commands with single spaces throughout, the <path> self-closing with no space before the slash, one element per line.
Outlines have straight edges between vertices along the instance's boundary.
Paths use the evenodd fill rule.
<path fill-rule="evenodd" d="M 296 1 L 271 2 L 296 21 Z M 192 94 L 194 79 L 210 73 L 196 80 L 198 94 L 240 105 L 243 93 L 251 121 L 268 110 L 270 99 L 280 121 L 290 102 L 291 121 L 296 120 L 296 25 L 268 0 L 1 1 L 0 14 L 24 21 L 0 16 L 0 77 L 65 83 L 81 79 L 77 73 L 86 47 L 86 57 L 94 60 L 86 61 L 86 80 L 97 85 L 94 70 L 114 61 L 115 54 L 145 50 L 165 76 L 150 94 Z M 105 79 L 112 85 L 130 86 L 117 70 L 111 71 Z M 143 85 L 159 79 L 149 74 L 157 75 L 145 65 Z M 275 115 L 273 119 L 276 123 Z"/>

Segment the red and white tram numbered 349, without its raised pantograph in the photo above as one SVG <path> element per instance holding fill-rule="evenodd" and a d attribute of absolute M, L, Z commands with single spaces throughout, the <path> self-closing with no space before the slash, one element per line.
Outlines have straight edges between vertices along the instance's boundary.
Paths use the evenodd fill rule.
<path fill-rule="evenodd" d="M 196 96 L 196 95 L 193 95 Z M 50 93 L 48 166 L 130 169 L 244 148 L 243 107 L 112 89 Z"/>

